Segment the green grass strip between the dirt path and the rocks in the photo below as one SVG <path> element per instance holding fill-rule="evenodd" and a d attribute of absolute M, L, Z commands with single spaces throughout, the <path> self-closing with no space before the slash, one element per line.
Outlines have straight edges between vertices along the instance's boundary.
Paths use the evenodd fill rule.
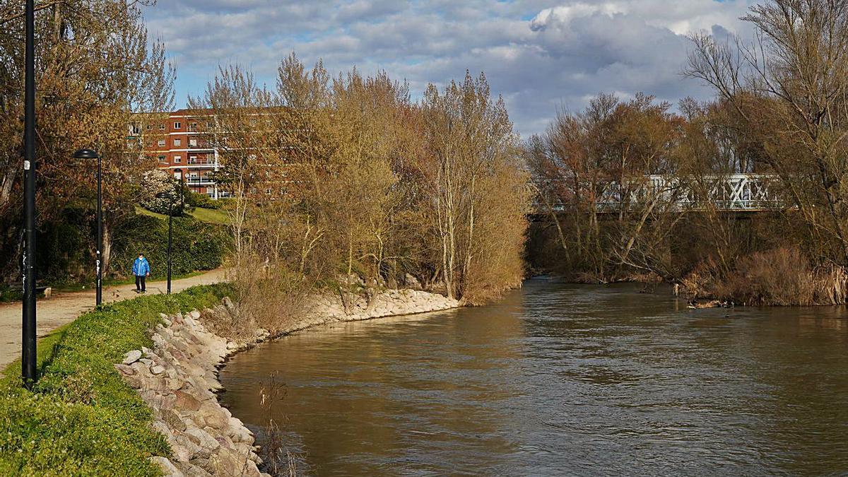
<path fill-rule="evenodd" d="M 0 379 L 0 475 L 158 475 L 170 456 L 153 414 L 114 369 L 151 346 L 159 312 L 190 311 L 232 295 L 226 283 L 110 303 L 39 340 L 39 380 L 24 390 L 20 361 Z"/>

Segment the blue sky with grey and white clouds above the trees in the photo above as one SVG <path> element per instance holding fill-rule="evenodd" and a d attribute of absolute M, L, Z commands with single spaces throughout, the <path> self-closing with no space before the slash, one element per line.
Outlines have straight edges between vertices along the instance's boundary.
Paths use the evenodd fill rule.
<path fill-rule="evenodd" d="M 176 63 L 176 102 L 203 93 L 218 65 L 242 65 L 269 87 L 292 51 L 331 73 L 356 66 L 428 83 L 483 71 L 522 137 L 558 109 L 598 93 L 677 103 L 711 98 L 681 75 L 694 31 L 743 36 L 745 0 L 158 0 L 150 35 Z"/>

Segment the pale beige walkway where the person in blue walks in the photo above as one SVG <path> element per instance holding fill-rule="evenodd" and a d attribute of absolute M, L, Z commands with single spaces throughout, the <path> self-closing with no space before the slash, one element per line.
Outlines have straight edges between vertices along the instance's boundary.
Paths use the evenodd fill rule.
<path fill-rule="evenodd" d="M 225 275 L 226 270 L 219 268 L 196 277 L 172 280 L 170 291 L 176 293 L 195 285 L 218 283 L 224 280 Z M 165 293 L 166 282 L 148 282 L 147 289 L 148 294 Z M 103 302 L 135 298 L 137 296 L 135 290 L 136 285 L 134 283 L 105 288 L 103 289 Z M 54 329 L 74 321 L 82 313 L 91 310 L 94 307 L 94 298 L 94 289 L 91 289 L 69 293 L 54 292 L 52 297 L 38 300 L 36 310 L 38 322 L 36 333 L 38 337 L 41 338 Z M 20 314 L 20 301 L 0 304 L 0 369 L 5 368 L 8 363 L 20 357 Z"/>

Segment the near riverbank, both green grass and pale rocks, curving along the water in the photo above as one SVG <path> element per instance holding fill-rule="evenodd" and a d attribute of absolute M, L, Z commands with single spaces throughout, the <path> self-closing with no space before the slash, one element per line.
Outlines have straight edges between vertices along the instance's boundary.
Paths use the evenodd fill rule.
<path fill-rule="evenodd" d="M 215 396 L 228 356 L 321 323 L 459 306 L 413 290 L 313 295 L 289 327 L 227 340 L 204 323 L 241 318 L 234 292 L 219 283 L 110 303 L 40 340 L 34 388 L 14 366 L 0 380 L 0 474 L 258 475 L 253 436 Z"/>

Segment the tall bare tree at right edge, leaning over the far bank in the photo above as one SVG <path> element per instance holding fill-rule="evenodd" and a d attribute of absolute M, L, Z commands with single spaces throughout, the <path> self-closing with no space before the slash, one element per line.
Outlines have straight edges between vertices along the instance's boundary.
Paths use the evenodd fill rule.
<path fill-rule="evenodd" d="M 762 163 L 781 177 L 819 244 L 817 261 L 848 264 L 848 3 L 771 0 L 744 19 L 756 40 L 693 36 L 687 73 L 732 104 Z"/>

